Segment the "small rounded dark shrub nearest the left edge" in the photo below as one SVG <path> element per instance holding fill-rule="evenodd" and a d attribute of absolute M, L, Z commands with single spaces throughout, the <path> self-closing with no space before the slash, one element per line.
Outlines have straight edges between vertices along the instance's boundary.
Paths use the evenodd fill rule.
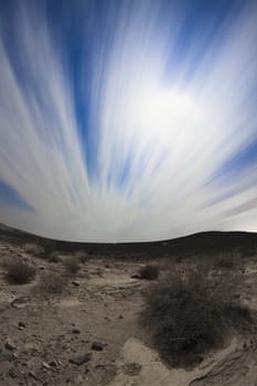
<path fill-rule="evenodd" d="M 35 270 L 21 259 L 6 261 L 7 279 L 17 285 L 25 285 L 35 277 Z"/>

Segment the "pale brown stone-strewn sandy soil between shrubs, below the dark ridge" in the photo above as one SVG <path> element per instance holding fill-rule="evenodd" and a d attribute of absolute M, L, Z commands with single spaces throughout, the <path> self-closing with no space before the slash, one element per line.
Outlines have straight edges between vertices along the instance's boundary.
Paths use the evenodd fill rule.
<path fill-rule="evenodd" d="M 172 369 L 160 361 L 139 323 L 149 283 L 131 278 L 144 261 L 89 257 L 66 279 L 63 294 L 42 297 L 41 276 L 64 276 L 68 256 L 51 262 L 35 257 L 36 248 L 0 243 L 1 261 L 22 258 L 36 270 L 33 282 L 19 286 L 0 270 L 1 386 L 257 386 L 255 331 L 232 337 L 195 368 Z M 247 261 L 240 298 L 257 310 L 256 256 Z"/>

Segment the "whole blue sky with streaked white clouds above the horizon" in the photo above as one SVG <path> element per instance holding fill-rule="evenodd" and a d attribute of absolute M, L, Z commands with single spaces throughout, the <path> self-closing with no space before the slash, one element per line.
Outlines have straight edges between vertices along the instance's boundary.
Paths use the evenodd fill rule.
<path fill-rule="evenodd" d="M 0 0 L 0 222 L 257 232 L 257 0 Z"/>

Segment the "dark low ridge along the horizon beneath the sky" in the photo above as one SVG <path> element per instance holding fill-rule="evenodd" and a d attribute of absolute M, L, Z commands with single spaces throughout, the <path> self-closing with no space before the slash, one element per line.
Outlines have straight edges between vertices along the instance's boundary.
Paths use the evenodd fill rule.
<path fill-rule="evenodd" d="M 248 232 L 201 232 L 189 236 L 160 242 L 147 243 L 75 243 L 44 238 L 0 224 L 0 240 L 8 239 L 14 244 L 35 243 L 46 250 L 76 251 L 85 249 L 96 255 L 141 256 L 151 257 L 169 255 L 227 251 L 232 249 L 253 249 L 257 253 L 257 233 Z"/>

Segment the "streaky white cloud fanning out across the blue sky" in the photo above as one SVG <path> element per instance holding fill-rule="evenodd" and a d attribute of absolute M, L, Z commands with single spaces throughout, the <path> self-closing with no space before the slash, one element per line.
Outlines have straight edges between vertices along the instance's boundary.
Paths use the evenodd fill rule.
<path fill-rule="evenodd" d="M 109 10 L 115 37 L 108 57 L 94 47 L 90 125 L 99 130 L 94 183 L 69 79 L 44 15 L 22 9 L 15 25 L 17 55 L 33 88 L 21 87 L 0 44 L 0 178 L 35 208 L 0 206 L 2 222 L 89 242 L 161 239 L 226 227 L 257 230 L 253 205 L 233 213 L 256 199 L 257 168 L 227 183 L 208 182 L 231 154 L 257 137 L 250 98 L 257 79 L 256 9 L 246 8 L 234 24 L 226 19 L 196 68 L 191 68 L 192 37 L 176 82 L 164 74 L 184 20 L 171 14 L 168 33 L 160 29 L 157 9 L 130 9 L 131 18 L 121 11 L 115 24 Z M 190 68 L 194 75 L 185 84 Z M 127 176 L 119 186 L 126 159 Z M 208 205 L 229 192 L 227 200 Z"/>

